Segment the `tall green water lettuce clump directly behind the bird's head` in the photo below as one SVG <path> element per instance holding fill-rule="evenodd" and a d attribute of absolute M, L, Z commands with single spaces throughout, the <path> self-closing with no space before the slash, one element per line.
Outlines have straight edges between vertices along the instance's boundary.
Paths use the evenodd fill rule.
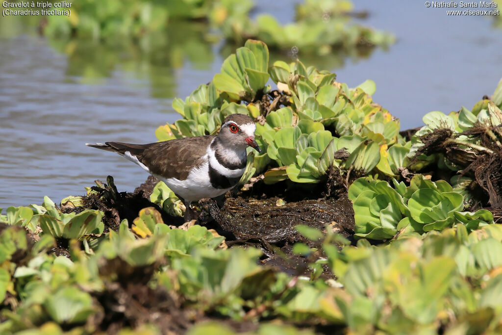
<path fill-rule="evenodd" d="M 257 121 L 257 141 L 265 150 L 253 167 L 266 183 L 318 183 L 330 167 L 399 174 L 409 145 L 399 135 L 399 120 L 371 99 L 374 82 L 351 89 L 335 79 L 300 61 L 269 66 L 267 45 L 247 40 L 210 83 L 173 101 L 183 119 L 159 127 L 156 136 L 215 134 L 227 115 L 241 113 Z"/>

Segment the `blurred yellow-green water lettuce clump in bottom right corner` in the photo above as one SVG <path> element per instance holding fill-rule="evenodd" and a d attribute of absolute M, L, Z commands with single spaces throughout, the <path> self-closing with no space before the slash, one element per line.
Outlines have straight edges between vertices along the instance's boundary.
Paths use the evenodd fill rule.
<path fill-rule="evenodd" d="M 385 247 L 364 240 L 357 248 L 346 246 L 334 265 L 344 290 L 321 300 L 321 309 L 338 307 L 354 332 L 436 332 L 439 324 L 451 331 L 497 332 L 502 277 L 492 271 L 502 265 L 500 232 L 499 225 L 489 225 L 468 234 L 459 224 Z"/>

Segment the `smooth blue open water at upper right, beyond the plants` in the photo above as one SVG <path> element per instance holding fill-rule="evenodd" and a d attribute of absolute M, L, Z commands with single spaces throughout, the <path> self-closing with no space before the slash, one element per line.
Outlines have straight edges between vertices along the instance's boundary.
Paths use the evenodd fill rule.
<path fill-rule="evenodd" d="M 336 69 L 351 86 L 373 79 L 374 100 L 401 119 L 402 129 L 422 125 L 432 110 L 470 109 L 502 78 L 502 29 L 491 18 L 447 16 L 424 3 L 358 0 L 356 7 L 370 13 L 365 23 L 394 32 L 398 42 Z"/>

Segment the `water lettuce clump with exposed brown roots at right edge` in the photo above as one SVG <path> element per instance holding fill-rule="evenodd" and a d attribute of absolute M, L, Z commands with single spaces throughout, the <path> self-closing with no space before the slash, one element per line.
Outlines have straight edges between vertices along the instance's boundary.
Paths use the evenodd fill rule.
<path fill-rule="evenodd" d="M 477 201 L 500 206 L 500 87 L 499 83 L 491 99 L 485 97 L 471 110 L 462 107 L 449 115 L 440 111 L 425 115 L 426 126 L 411 138 L 407 167 L 416 172 L 442 171 L 451 176 L 453 187 L 466 196 L 466 201 L 475 201 L 476 192 L 484 193 Z"/>

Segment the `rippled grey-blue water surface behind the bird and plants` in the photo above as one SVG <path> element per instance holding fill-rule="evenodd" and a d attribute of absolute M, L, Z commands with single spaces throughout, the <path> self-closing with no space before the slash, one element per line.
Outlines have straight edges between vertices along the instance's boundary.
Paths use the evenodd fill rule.
<path fill-rule="evenodd" d="M 356 2 L 370 12 L 366 24 L 398 36 L 388 51 L 307 65 L 329 67 L 351 86 L 375 80 L 374 100 L 403 129 L 420 126 L 428 111 L 470 108 L 493 92 L 502 77 L 502 30 L 492 29 L 489 18 L 396 3 Z M 256 13 L 262 12 L 281 23 L 294 15 L 284 0 L 259 1 Z M 133 190 L 146 172 L 84 143 L 156 141 L 155 129 L 179 118 L 172 98 L 210 81 L 223 61 L 219 46 L 204 42 L 203 27 L 172 25 L 165 39 L 139 46 L 47 41 L 6 34 L 5 27 L 0 23 L 0 207 L 40 203 L 44 195 L 59 202 L 107 175 L 120 191 Z"/>

